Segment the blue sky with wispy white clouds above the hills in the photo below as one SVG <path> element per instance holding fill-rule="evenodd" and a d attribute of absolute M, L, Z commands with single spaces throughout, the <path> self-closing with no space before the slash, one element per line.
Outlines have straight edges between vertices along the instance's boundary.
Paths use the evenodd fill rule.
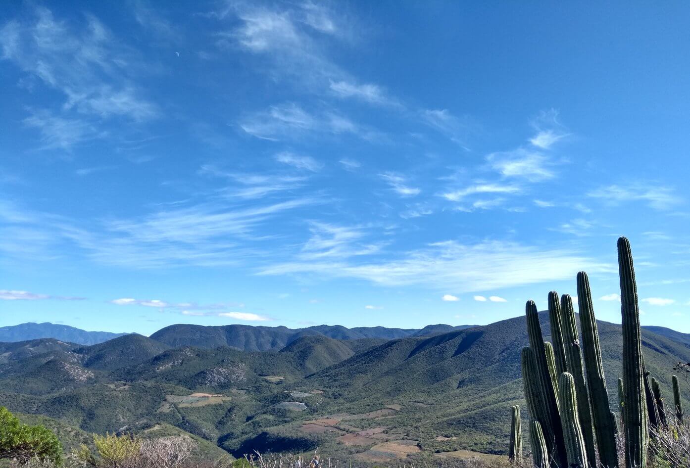
<path fill-rule="evenodd" d="M 687 3 L 14 1 L 0 326 L 690 332 Z"/>

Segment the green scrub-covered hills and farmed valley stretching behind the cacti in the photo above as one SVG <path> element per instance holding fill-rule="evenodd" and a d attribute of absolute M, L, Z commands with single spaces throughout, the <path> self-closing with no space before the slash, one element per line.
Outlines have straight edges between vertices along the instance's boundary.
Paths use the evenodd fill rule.
<path fill-rule="evenodd" d="M 549 339 L 549 316 L 540 319 Z M 615 410 L 620 325 L 598 325 Z M 647 369 L 670 395 L 673 365 L 690 362 L 688 336 L 659 328 L 642 338 Z M 90 346 L 42 338 L 0 343 L 0 400 L 63 428 L 66 445 L 84 431 L 178 431 L 210 455 L 503 454 L 509 408 L 524 405 L 527 343 L 524 317 L 424 329 L 173 325 Z"/>

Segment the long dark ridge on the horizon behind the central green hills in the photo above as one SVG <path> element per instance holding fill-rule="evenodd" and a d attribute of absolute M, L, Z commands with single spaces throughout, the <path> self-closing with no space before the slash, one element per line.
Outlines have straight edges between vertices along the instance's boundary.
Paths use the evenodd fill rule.
<path fill-rule="evenodd" d="M 279 351 L 304 336 L 326 336 L 335 340 L 384 339 L 395 340 L 410 336 L 428 336 L 465 329 L 473 325 L 428 325 L 417 328 L 354 327 L 315 325 L 290 329 L 287 327 L 255 327 L 252 325 L 170 325 L 151 335 L 151 338 L 170 347 L 193 346 L 211 349 L 231 346 L 243 351 Z"/>

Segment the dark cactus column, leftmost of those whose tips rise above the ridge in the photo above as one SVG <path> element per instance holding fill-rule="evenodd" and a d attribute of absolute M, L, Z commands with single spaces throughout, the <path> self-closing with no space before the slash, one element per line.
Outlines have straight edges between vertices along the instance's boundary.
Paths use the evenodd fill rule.
<path fill-rule="evenodd" d="M 537 375 L 533 376 L 533 378 L 539 383 L 541 397 L 540 406 L 545 413 L 544 419 L 539 419 L 535 414 L 532 414 L 532 416 L 538 419 L 542 425 L 544 438 L 546 439 L 549 454 L 551 455 L 551 462 L 555 466 L 565 467 L 567 458 L 560 413 L 558 410 L 558 403 L 556 403 L 558 397 L 553 381 L 551 380 L 551 374 L 549 373 L 542 326 L 539 323 L 539 313 L 537 312 L 537 305 L 534 301 L 527 301 L 525 314 L 529 344 L 535 356 L 534 361 L 537 371 Z"/>

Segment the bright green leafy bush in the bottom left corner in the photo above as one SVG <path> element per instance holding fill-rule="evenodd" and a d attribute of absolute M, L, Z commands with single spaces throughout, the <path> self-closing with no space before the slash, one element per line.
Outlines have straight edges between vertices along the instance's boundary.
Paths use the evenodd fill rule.
<path fill-rule="evenodd" d="M 62 444 L 43 426 L 28 426 L 6 407 L 0 407 L 0 460 L 17 460 L 25 464 L 32 459 L 62 464 Z"/>

